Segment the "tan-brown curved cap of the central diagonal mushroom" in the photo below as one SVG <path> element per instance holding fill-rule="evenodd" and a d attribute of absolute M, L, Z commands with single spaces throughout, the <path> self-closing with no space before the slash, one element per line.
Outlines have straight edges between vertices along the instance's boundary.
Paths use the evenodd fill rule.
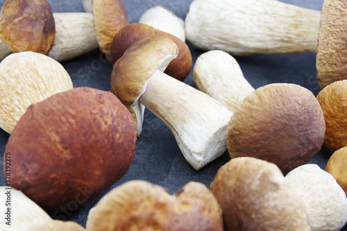
<path fill-rule="evenodd" d="M 112 92 L 128 107 L 135 122 L 138 118 L 130 105 L 144 93 L 153 72 L 164 71 L 177 54 L 178 46 L 174 41 L 162 36 L 148 36 L 131 45 L 113 66 Z"/>

